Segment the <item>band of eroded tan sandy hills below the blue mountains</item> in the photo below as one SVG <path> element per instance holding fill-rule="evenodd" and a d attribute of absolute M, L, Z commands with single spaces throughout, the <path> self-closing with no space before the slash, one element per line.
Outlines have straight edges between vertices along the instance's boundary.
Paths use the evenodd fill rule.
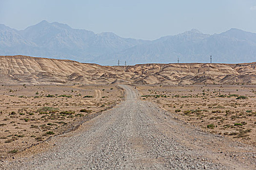
<path fill-rule="evenodd" d="M 256 84 L 256 62 L 100 66 L 71 60 L 0 56 L 4 84 Z"/>

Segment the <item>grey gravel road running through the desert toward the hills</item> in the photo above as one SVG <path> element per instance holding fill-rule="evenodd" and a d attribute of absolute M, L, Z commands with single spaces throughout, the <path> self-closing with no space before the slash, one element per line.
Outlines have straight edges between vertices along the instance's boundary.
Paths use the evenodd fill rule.
<path fill-rule="evenodd" d="M 256 169 L 255 147 L 174 119 L 156 104 L 140 101 L 132 86 L 119 86 L 126 95 L 118 106 L 74 132 L 54 136 L 55 146 L 45 152 L 4 161 L 2 169 Z"/>

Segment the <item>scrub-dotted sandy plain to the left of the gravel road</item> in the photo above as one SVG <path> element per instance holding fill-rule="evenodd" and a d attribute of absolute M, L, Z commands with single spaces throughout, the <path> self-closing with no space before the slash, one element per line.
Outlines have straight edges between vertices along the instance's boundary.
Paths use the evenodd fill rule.
<path fill-rule="evenodd" d="M 0 157 L 13 156 L 123 100 L 116 85 L 0 85 Z"/>

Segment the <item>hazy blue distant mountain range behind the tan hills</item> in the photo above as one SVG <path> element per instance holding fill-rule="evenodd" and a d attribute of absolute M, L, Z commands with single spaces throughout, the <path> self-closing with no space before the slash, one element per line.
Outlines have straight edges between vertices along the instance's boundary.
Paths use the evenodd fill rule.
<path fill-rule="evenodd" d="M 153 41 L 122 38 L 114 33 L 95 34 L 67 24 L 45 20 L 25 30 L 0 24 L 0 55 L 30 55 L 79 62 L 117 65 L 210 61 L 243 63 L 256 61 L 256 34 L 230 29 L 203 34 L 192 29 Z"/>

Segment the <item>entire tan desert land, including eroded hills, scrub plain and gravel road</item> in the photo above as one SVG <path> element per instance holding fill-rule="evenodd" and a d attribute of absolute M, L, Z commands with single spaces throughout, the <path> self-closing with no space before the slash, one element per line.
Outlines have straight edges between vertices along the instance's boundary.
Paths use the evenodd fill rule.
<path fill-rule="evenodd" d="M 256 169 L 256 62 L 0 56 L 0 169 Z"/>

